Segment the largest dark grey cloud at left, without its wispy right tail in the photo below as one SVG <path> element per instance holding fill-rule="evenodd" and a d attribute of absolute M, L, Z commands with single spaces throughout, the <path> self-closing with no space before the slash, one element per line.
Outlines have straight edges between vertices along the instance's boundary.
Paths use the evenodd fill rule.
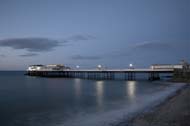
<path fill-rule="evenodd" d="M 61 46 L 61 42 L 47 38 L 14 38 L 0 40 L 0 47 L 25 49 L 28 52 L 46 52 Z"/>

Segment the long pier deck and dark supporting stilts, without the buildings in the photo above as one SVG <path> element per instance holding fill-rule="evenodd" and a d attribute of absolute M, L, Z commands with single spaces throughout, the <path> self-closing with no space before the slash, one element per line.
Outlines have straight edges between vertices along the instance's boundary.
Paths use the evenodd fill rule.
<path fill-rule="evenodd" d="M 27 71 L 29 76 L 40 77 L 63 77 L 63 78 L 83 78 L 83 79 L 105 79 L 114 80 L 119 74 L 123 80 L 136 80 L 137 73 L 146 73 L 148 80 L 159 80 L 162 73 L 173 73 L 174 69 L 83 69 L 83 70 L 36 70 Z"/>

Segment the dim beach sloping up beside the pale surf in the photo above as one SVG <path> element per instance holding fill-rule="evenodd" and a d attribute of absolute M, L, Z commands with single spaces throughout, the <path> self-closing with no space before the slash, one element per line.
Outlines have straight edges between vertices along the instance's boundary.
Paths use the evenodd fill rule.
<path fill-rule="evenodd" d="M 116 126 L 190 126 L 190 84 L 185 84 L 163 102 Z"/>

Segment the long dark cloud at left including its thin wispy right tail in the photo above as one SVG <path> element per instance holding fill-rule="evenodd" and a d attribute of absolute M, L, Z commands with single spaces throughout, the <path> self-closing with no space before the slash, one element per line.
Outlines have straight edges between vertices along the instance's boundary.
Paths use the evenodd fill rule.
<path fill-rule="evenodd" d="M 0 40 L 0 47 L 25 49 L 28 52 L 47 52 L 58 46 L 67 46 L 68 43 L 94 39 L 91 35 L 73 35 L 61 41 L 48 38 L 13 38 Z"/>

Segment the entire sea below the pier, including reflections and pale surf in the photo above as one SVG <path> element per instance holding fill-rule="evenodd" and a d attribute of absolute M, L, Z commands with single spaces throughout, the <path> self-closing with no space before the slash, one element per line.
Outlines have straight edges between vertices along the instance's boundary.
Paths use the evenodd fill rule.
<path fill-rule="evenodd" d="M 0 126 L 109 126 L 157 104 L 180 87 L 166 82 L 0 72 Z"/>

